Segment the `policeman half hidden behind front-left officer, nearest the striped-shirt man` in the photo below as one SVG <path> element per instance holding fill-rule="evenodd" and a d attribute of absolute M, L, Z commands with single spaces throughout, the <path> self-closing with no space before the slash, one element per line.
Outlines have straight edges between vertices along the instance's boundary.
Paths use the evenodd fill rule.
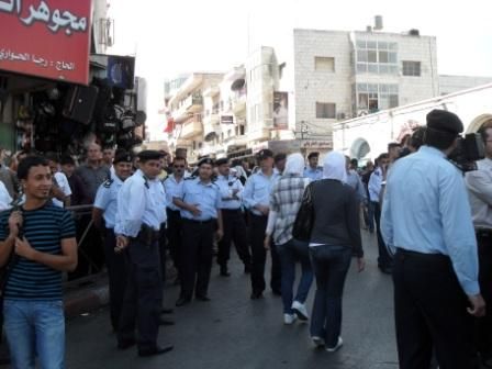
<path fill-rule="evenodd" d="M 126 283 L 124 257 L 121 253 L 114 251 L 116 246 L 114 236 L 116 200 L 123 182 L 132 174 L 132 160 L 128 153 L 121 153 L 114 158 L 114 176 L 99 187 L 92 209 L 92 221 L 98 228 L 101 228 L 102 219 L 104 219 L 104 257 L 110 282 L 111 325 L 114 331 L 118 331 Z"/>

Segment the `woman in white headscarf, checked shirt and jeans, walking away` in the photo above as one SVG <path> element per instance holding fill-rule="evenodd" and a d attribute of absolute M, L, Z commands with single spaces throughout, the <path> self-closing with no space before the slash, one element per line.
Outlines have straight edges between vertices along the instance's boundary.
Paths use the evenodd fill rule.
<path fill-rule="evenodd" d="M 292 237 L 295 215 L 309 183 L 309 178 L 302 177 L 303 171 L 302 155 L 289 155 L 283 175 L 273 186 L 270 194 L 270 212 L 265 237 L 265 247 L 268 249 L 271 235 L 273 235 L 275 247 L 280 258 L 283 323 L 286 324 L 292 324 L 297 317 L 308 321 L 309 314 L 304 302 L 313 282 L 308 244 Z M 301 261 L 302 275 L 294 298 L 292 290 L 295 280 L 295 260 Z"/>

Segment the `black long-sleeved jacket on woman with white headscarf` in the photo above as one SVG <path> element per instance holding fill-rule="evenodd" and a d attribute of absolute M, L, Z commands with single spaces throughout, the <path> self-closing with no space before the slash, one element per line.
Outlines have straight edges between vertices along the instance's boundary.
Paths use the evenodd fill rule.
<path fill-rule="evenodd" d="M 317 180 L 310 187 L 314 205 L 311 243 L 350 247 L 356 256 L 362 257 L 356 191 L 333 179 Z"/>

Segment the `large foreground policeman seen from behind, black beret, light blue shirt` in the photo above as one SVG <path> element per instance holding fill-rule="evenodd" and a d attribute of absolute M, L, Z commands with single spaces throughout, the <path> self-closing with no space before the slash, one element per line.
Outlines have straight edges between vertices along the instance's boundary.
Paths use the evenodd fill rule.
<path fill-rule="evenodd" d="M 396 248 L 394 318 L 401 369 L 478 368 L 472 315 L 483 316 L 477 241 L 461 174 L 447 160 L 463 131 L 445 110 L 427 116 L 425 145 L 389 171 L 381 215 Z M 488 287 L 490 288 L 490 287 Z"/>

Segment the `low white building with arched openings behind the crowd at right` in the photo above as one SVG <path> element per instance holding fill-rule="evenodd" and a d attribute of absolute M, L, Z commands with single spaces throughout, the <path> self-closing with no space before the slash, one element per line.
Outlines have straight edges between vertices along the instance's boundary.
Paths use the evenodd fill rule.
<path fill-rule="evenodd" d="M 492 122 L 492 83 L 359 116 L 333 125 L 334 149 L 358 159 L 374 159 L 390 142 L 402 142 L 412 130 L 425 125 L 433 109 L 446 109 L 461 119 L 465 133 Z"/>

